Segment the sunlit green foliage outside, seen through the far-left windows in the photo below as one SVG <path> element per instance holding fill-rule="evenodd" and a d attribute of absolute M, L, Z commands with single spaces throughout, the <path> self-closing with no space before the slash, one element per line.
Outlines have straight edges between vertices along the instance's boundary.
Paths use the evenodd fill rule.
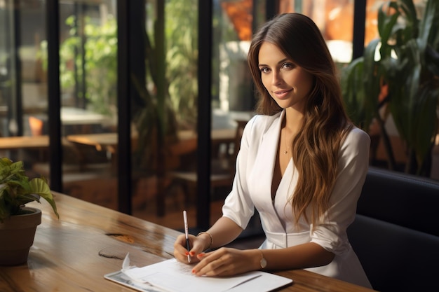
<path fill-rule="evenodd" d="M 71 15 L 66 21 L 69 36 L 60 45 L 60 84 L 88 108 L 107 116 L 116 115 L 117 27 L 108 15 L 104 23 Z M 40 58 L 47 66 L 47 42 L 41 43 Z M 104 79 L 104 82 L 102 82 Z"/>

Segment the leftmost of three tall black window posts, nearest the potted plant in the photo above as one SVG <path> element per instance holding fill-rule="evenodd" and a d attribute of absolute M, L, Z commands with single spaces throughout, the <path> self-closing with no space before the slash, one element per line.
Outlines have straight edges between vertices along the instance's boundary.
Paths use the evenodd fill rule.
<path fill-rule="evenodd" d="M 50 188 L 62 192 L 60 1 L 46 1 Z"/>

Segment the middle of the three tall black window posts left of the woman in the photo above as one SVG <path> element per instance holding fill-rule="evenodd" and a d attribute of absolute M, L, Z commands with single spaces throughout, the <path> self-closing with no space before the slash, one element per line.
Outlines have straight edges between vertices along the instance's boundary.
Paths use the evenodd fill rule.
<path fill-rule="evenodd" d="M 130 133 L 130 3 L 117 1 L 117 105 L 118 105 L 118 203 L 119 211 L 131 214 Z"/>

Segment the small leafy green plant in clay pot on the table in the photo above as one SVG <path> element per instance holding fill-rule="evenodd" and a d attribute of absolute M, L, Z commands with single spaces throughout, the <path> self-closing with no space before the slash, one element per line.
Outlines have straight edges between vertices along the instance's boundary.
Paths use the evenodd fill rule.
<path fill-rule="evenodd" d="M 0 159 L 0 265 L 27 261 L 36 226 L 41 223 L 41 210 L 25 207 L 25 204 L 40 202 L 41 197 L 59 218 L 46 179 L 29 179 L 21 161 Z"/>

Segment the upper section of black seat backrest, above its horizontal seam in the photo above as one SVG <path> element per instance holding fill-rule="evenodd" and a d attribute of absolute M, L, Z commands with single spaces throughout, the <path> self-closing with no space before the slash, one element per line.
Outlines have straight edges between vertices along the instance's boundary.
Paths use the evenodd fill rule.
<path fill-rule="evenodd" d="M 439 236 L 439 181 L 369 167 L 357 214 Z"/>

